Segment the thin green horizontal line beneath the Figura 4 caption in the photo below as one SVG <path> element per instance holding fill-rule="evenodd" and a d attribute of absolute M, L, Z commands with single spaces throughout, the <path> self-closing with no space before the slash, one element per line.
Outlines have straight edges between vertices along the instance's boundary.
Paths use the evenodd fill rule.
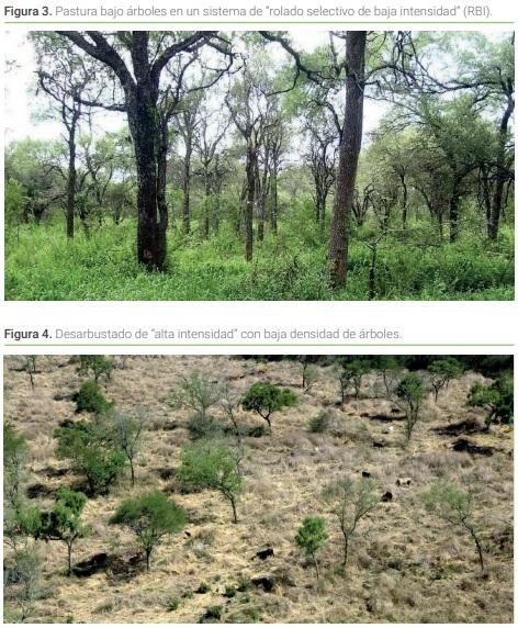
<path fill-rule="evenodd" d="M 404 343 L 214 343 L 214 344 L 195 344 L 195 343 L 128 343 L 128 344 L 113 344 L 113 343 L 48 343 L 48 344 L 32 344 L 32 343 L 7 343 L 4 347 L 514 347 L 514 345 L 503 344 L 404 344 Z"/>

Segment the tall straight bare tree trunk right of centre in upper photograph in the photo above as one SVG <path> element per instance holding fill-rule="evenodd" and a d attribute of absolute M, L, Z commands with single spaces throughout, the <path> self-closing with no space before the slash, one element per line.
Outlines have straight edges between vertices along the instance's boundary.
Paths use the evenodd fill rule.
<path fill-rule="evenodd" d="M 346 116 L 340 141 L 335 203 L 329 238 L 329 279 L 345 288 L 354 180 L 363 126 L 363 78 L 367 31 L 348 31 L 346 43 Z"/>

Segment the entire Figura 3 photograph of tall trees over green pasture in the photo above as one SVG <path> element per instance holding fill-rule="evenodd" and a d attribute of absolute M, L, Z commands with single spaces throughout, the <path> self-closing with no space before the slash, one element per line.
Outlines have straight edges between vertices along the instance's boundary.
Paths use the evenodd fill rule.
<path fill-rule="evenodd" d="M 5 51 L 5 300 L 514 299 L 513 33 Z"/>

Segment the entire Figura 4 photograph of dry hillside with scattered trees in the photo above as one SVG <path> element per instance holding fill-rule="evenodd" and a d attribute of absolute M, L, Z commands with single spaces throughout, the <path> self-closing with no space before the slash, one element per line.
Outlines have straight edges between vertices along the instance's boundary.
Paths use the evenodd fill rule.
<path fill-rule="evenodd" d="M 3 372 L 5 623 L 513 623 L 513 356 Z"/>

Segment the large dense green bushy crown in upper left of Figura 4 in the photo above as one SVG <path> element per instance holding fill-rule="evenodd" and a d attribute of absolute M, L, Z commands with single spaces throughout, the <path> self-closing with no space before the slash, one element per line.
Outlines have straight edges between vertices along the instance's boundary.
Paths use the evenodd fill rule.
<path fill-rule="evenodd" d="M 76 473 L 85 475 L 92 495 L 105 494 L 122 474 L 126 455 L 102 416 L 58 427 L 56 456 L 69 459 Z"/>

